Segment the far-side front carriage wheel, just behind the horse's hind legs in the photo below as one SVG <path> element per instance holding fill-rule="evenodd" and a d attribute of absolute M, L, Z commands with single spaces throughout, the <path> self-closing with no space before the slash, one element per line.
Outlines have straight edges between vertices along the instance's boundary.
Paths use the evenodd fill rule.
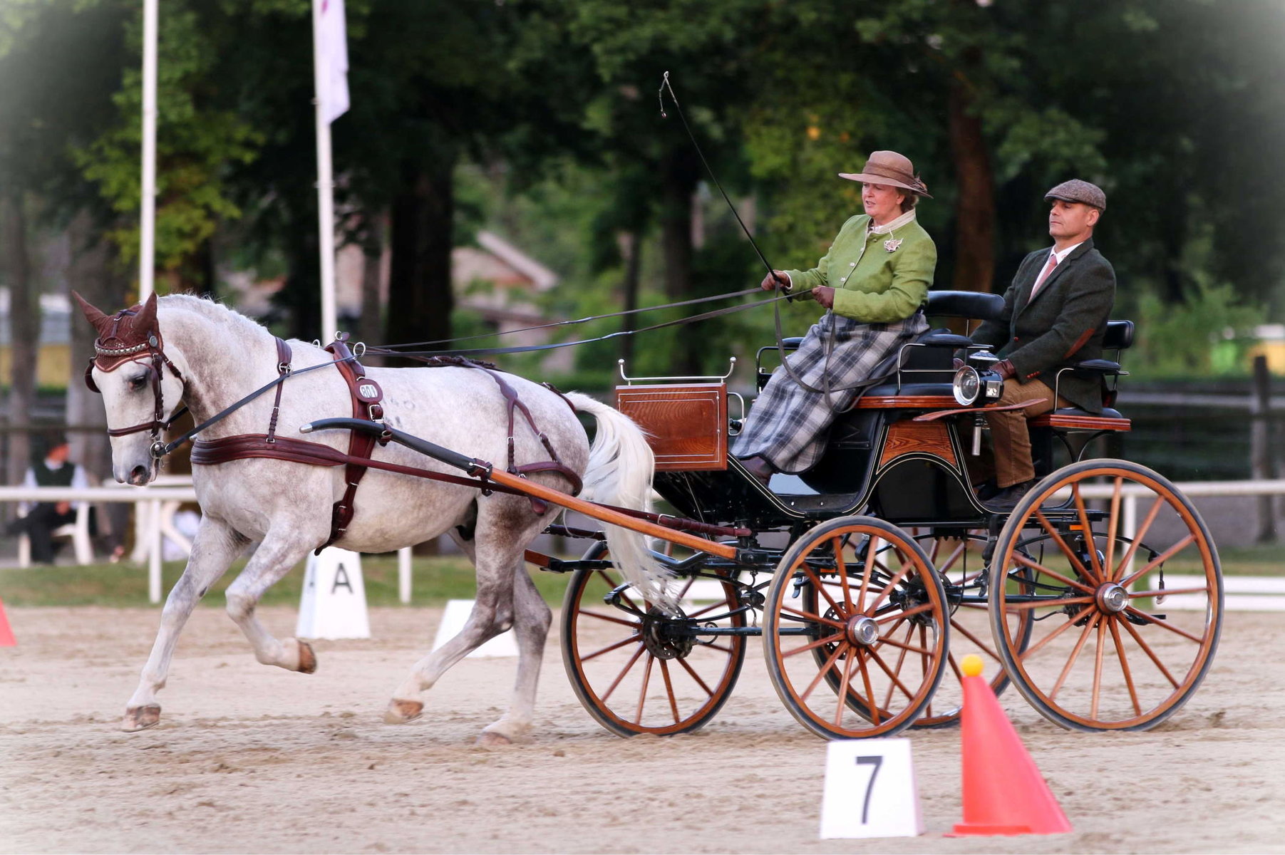
<path fill-rule="evenodd" d="M 603 543 L 585 560 L 607 557 Z M 664 616 L 636 591 L 616 609 L 603 598 L 625 582 L 619 570 L 577 570 L 563 600 L 563 664 L 589 714 L 617 736 L 690 733 L 722 707 L 745 661 L 744 635 L 693 635 L 690 626 L 744 626 L 730 583 L 675 579 L 681 615 Z M 702 579 L 700 582 L 705 582 Z M 699 598 L 696 598 L 699 597 Z M 677 632 L 676 632 L 677 630 Z"/>

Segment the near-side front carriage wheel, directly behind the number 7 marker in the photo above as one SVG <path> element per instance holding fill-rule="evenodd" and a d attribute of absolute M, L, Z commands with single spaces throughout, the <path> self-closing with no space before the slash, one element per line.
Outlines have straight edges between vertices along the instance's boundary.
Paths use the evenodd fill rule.
<path fill-rule="evenodd" d="M 817 736 L 889 736 L 924 711 L 942 678 L 946 621 L 942 583 L 910 535 L 840 517 L 804 534 L 776 567 L 763 607 L 767 671 Z"/>

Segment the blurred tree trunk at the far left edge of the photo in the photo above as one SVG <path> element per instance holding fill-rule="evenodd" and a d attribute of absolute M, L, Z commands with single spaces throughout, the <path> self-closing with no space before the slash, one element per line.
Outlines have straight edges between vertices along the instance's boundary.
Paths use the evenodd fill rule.
<path fill-rule="evenodd" d="M 40 348 L 40 289 L 31 277 L 27 217 L 21 191 L 0 200 L 4 221 L 4 255 L 9 285 L 9 471 L 8 483 L 19 484 L 31 463 L 31 412 L 36 406 L 36 356 Z"/>

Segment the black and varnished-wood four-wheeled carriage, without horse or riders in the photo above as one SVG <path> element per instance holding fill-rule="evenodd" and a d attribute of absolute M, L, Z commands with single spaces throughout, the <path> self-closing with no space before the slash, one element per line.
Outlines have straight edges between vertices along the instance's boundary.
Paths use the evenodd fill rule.
<path fill-rule="evenodd" d="M 998 295 L 943 291 L 928 313 L 984 320 L 1001 308 Z M 1105 348 L 1118 358 L 1132 331 L 1112 321 Z M 1145 729 L 1190 697 L 1222 605 L 1199 514 L 1142 466 L 1081 460 L 1091 439 L 1130 429 L 1112 408 L 1032 420 L 1042 480 L 1011 514 L 988 511 L 969 470 L 982 407 L 998 392 L 978 389 L 987 354 L 974 359 L 980 375 L 952 368 L 969 344 L 935 330 L 903 348 L 888 381 L 840 416 L 821 462 L 770 488 L 726 453 L 739 420 L 726 416 L 722 379 L 618 390 L 619 408 L 651 434 L 657 492 L 681 515 L 726 526 L 716 539 L 736 548 L 667 551 L 676 615 L 631 594 L 601 544 L 554 565 L 574 571 L 563 656 L 600 724 L 622 736 L 699 728 L 731 692 L 752 635 L 781 701 L 822 737 L 953 721 L 968 652 L 995 666 L 996 691 L 1013 682 L 1068 728 Z M 776 348 L 759 350 L 759 389 L 765 350 Z M 1101 359 L 1076 370 L 1113 389 L 1122 374 Z M 1055 440 L 1070 460 L 1060 469 Z M 1132 507 L 1141 521 L 1126 519 Z M 1165 579 L 1176 565 L 1178 584 Z M 1182 611 L 1167 614 L 1168 597 Z"/>

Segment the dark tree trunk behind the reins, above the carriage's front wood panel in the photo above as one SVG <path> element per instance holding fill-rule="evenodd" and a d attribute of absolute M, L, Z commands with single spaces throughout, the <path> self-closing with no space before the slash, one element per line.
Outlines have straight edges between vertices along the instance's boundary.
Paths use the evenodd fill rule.
<path fill-rule="evenodd" d="M 696 191 L 699 163 L 693 154 L 671 151 L 660 163 L 660 246 L 664 252 L 664 295 L 669 302 L 691 297 L 691 196 Z M 700 341 L 680 335 L 671 370 L 700 372 Z"/>

